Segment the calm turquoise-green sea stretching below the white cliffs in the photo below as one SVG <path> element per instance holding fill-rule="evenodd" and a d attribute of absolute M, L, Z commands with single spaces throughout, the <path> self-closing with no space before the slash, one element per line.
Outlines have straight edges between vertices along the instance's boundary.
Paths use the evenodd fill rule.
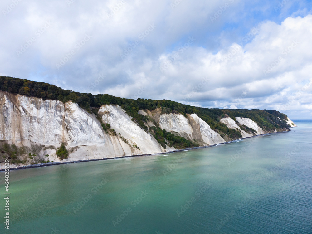
<path fill-rule="evenodd" d="M 311 234 L 312 121 L 294 122 L 212 148 L 12 171 L 0 233 Z"/>

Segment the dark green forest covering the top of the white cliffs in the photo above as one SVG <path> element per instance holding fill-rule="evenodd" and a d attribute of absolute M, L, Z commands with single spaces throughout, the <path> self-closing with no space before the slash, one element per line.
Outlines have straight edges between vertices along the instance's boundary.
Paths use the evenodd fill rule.
<path fill-rule="evenodd" d="M 0 77 L 0 90 L 14 94 L 22 94 L 43 99 L 60 100 L 62 102 L 73 101 L 78 103 L 81 108 L 88 110 L 90 107 L 99 108 L 101 105 L 112 104 L 119 105 L 126 113 L 131 116 L 138 126 L 145 131 L 148 131 L 146 123 L 148 117 L 138 114 L 140 109 L 155 110 L 161 108 L 162 113 L 181 113 L 187 114 L 196 113 L 210 127 L 219 132 L 222 136 L 229 136 L 231 139 L 241 137 L 241 133 L 235 129 L 228 129 L 225 124 L 220 123 L 220 119 L 226 116 L 231 117 L 236 121 L 237 117 L 250 118 L 255 121 L 265 131 L 274 131 L 275 129 L 289 129 L 286 120 L 287 116 L 276 110 L 247 110 L 247 109 L 208 109 L 202 107 L 194 107 L 185 105 L 170 100 L 152 100 L 142 99 L 137 100 L 120 98 L 108 94 L 79 93 L 72 90 L 63 90 L 55 85 L 50 85 L 43 82 L 35 82 L 25 79 L 17 79 L 12 77 Z M 29 91 L 28 91 L 29 90 Z M 106 127 L 102 124 L 102 128 Z M 108 127 L 110 128 L 110 127 Z M 252 131 L 251 129 L 249 129 Z M 158 132 L 158 131 L 156 131 Z M 161 135 L 159 135 L 161 137 Z M 158 139 L 159 140 L 159 139 Z M 161 140 L 159 140 L 161 141 Z M 162 142 L 164 144 L 164 142 Z M 184 144 L 184 143 L 183 143 Z"/>

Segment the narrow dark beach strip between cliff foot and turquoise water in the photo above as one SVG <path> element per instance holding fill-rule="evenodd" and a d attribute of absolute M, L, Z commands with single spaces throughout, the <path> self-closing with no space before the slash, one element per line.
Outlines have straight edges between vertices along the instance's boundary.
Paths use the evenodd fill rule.
<path fill-rule="evenodd" d="M 13 171 L 13 170 L 39 168 L 39 167 L 47 167 L 47 166 L 54 166 L 54 165 L 61 165 L 61 164 L 70 164 L 70 163 L 84 163 L 84 162 L 103 161 L 103 160 L 119 159 L 119 158 L 133 158 L 133 157 L 150 156 L 150 155 L 158 155 L 158 154 L 170 154 L 170 153 L 175 153 L 175 152 L 187 151 L 187 150 L 191 150 L 191 149 L 209 148 L 209 147 L 214 147 L 214 146 L 221 145 L 221 144 L 235 143 L 236 141 L 241 140 L 241 139 L 247 139 L 247 138 L 252 138 L 252 137 L 257 137 L 257 136 L 264 136 L 264 135 L 269 135 L 269 134 L 285 133 L 285 132 L 291 132 L 291 130 L 289 130 L 289 131 L 282 131 L 282 132 L 276 132 L 276 133 L 275 132 L 265 133 L 265 134 L 260 134 L 260 135 L 256 135 L 256 136 L 244 137 L 244 138 L 240 138 L 240 139 L 236 139 L 236 140 L 232 140 L 232 141 L 217 143 L 217 144 L 213 144 L 213 145 L 207 145 L 207 146 L 201 146 L 201 147 L 193 147 L 193 148 L 186 148 L 186 149 L 177 149 L 177 150 L 172 150 L 172 151 L 168 151 L 168 152 L 160 152 L 160 153 L 153 153 L 153 154 L 136 154 L 136 155 L 129 155 L 129 156 L 114 157 L 114 158 L 99 158 L 99 159 L 78 160 L 78 161 L 71 161 L 71 162 L 64 162 L 64 163 L 63 162 L 49 162 L 49 163 L 28 165 L 28 166 L 23 166 L 23 167 L 9 168 L 9 170 Z M 0 172 L 4 172 L 4 171 L 5 171 L 5 169 L 0 169 Z"/>

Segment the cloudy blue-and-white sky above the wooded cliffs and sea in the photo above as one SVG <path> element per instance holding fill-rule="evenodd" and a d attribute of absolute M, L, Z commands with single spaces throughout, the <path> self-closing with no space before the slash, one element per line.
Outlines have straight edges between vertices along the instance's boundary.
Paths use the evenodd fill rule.
<path fill-rule="evenodd" d="M 2 0 L 0 75 L 312 119 L 312 3 Z"/>

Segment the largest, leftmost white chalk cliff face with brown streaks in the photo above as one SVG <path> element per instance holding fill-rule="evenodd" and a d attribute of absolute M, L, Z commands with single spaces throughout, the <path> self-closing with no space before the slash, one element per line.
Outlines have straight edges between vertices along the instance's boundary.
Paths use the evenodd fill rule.
<path fill-rule="evenodd" d="M 56 149 L 62 142 L 70 152 L 64 162 L 132 155 L 128 144 L 106 134 L 96 117 L 76 103 L 0 92 L 0 110 L 0 140 L 27 146 L 42 160 L 60 161 Z"/>

